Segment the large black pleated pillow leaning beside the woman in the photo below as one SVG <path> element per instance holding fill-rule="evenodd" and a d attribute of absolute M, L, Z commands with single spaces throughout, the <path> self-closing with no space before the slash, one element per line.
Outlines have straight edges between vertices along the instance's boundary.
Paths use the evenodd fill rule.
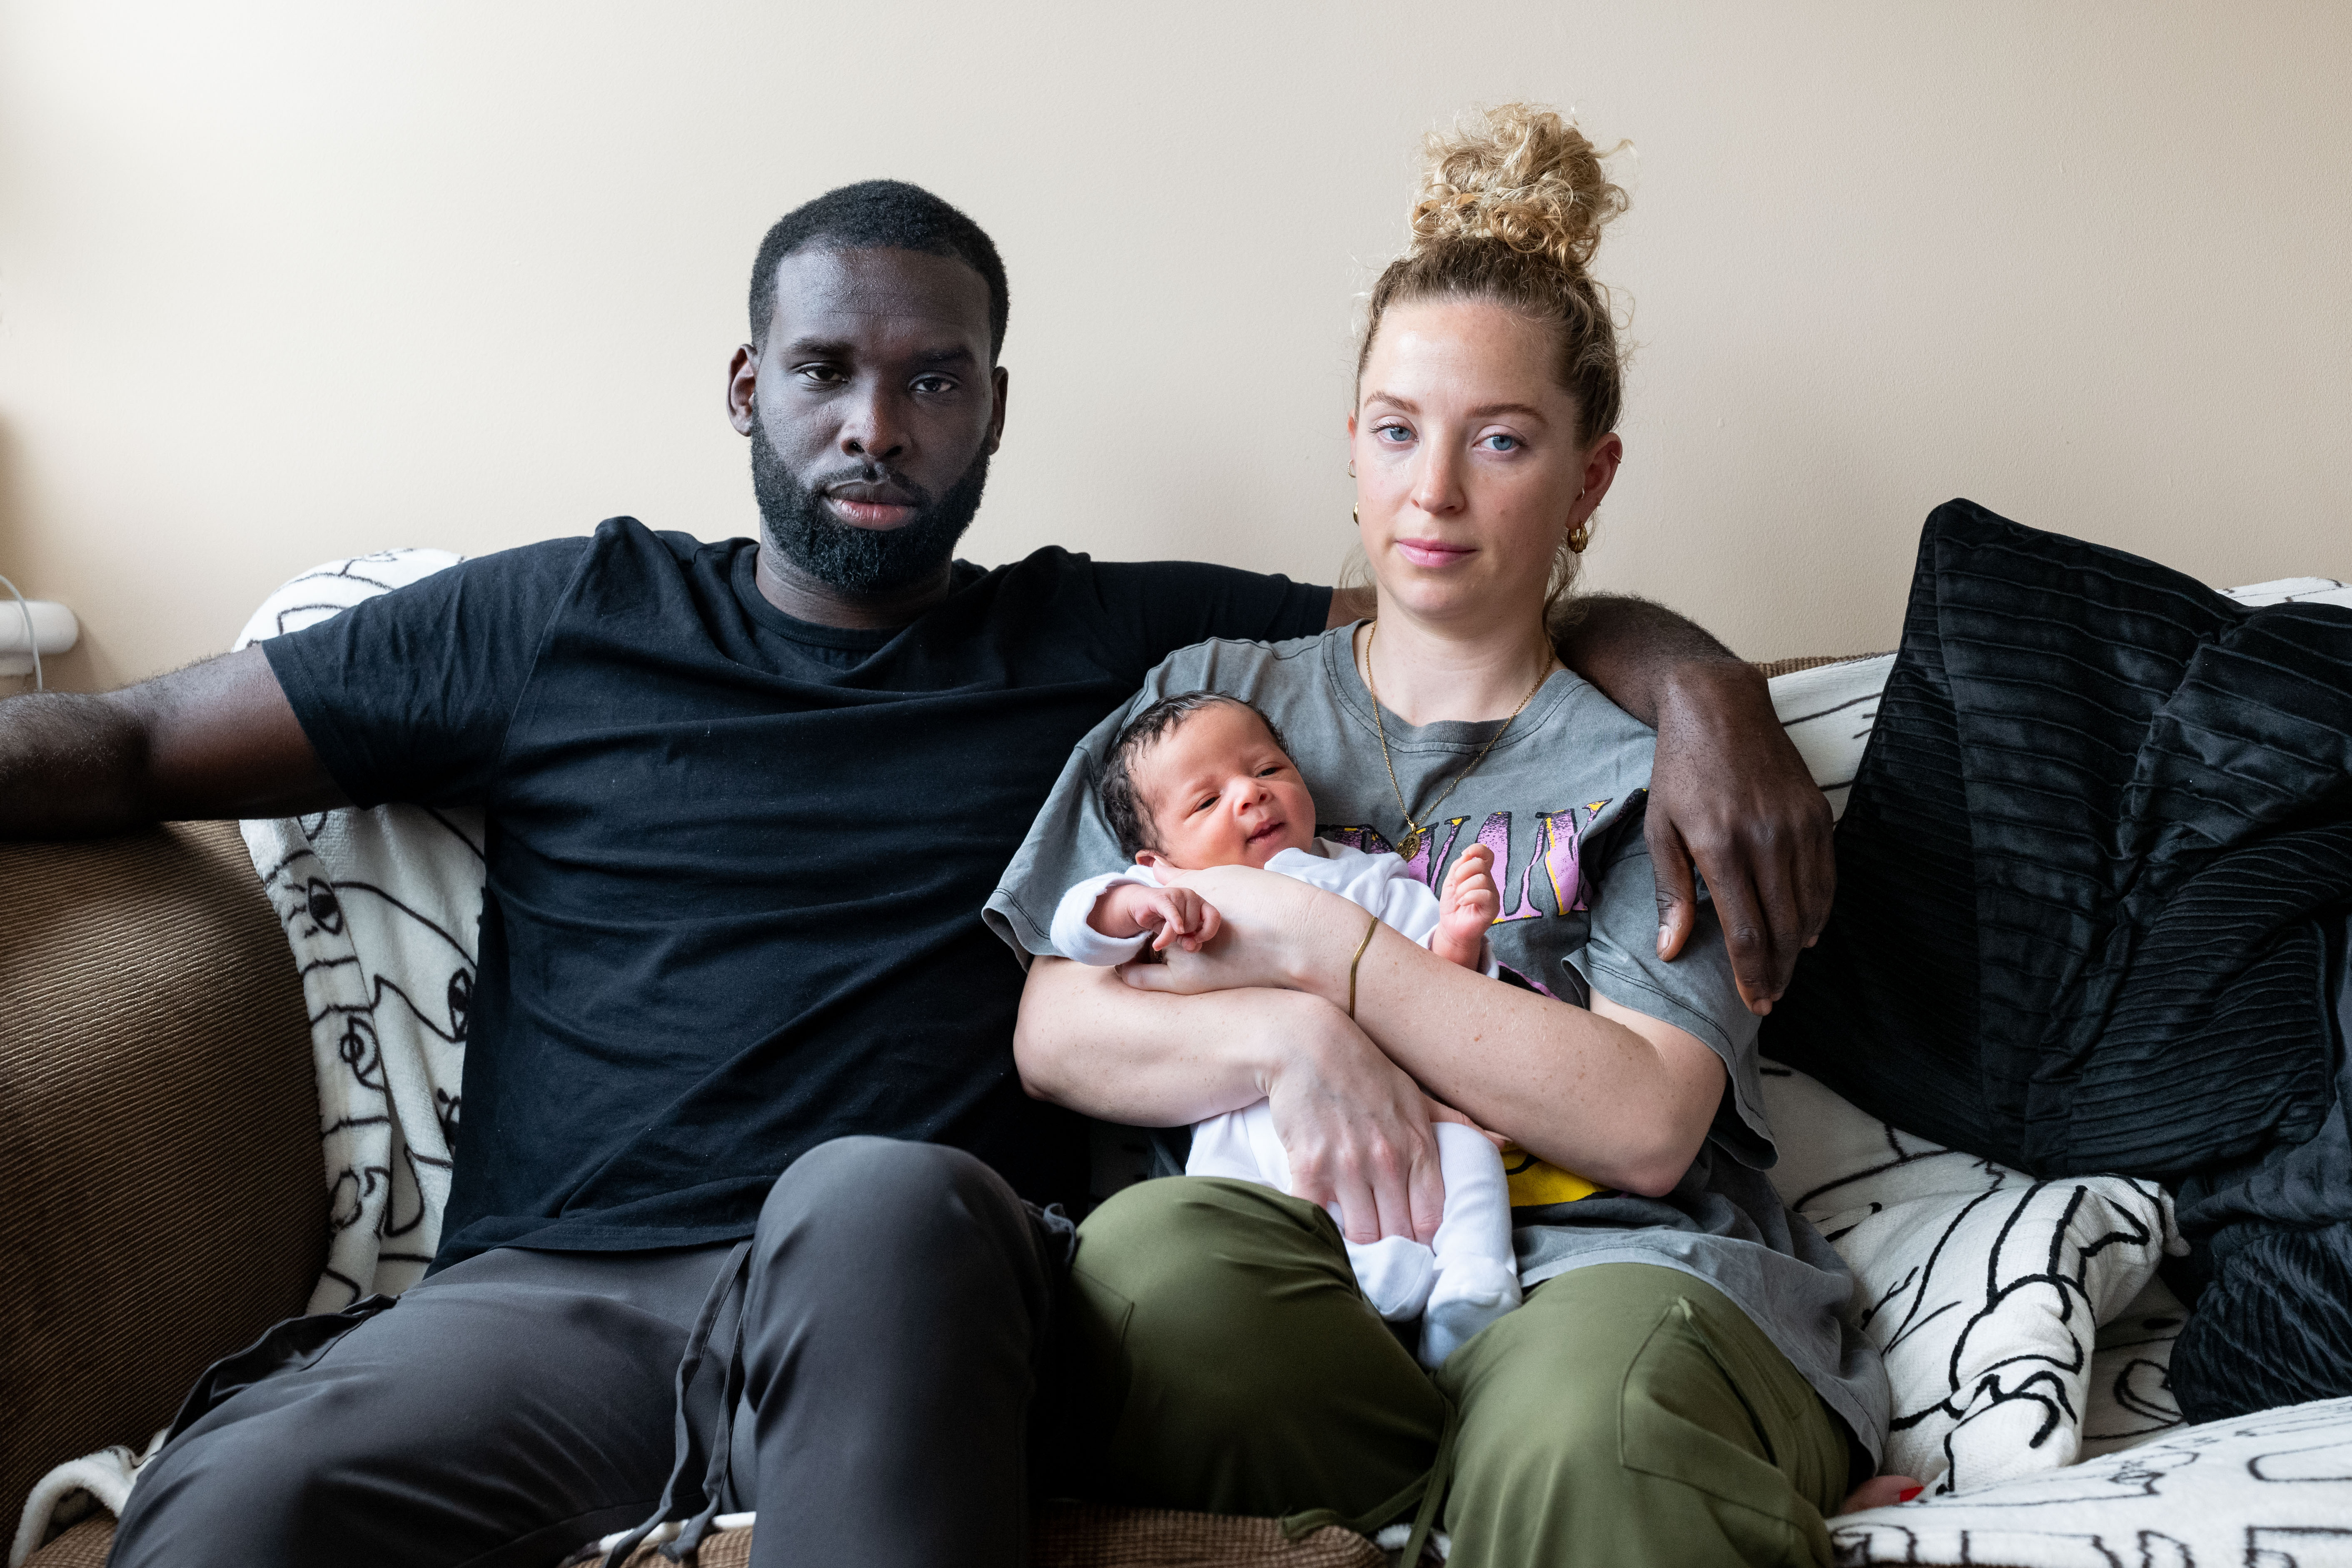
<path fill-rule="evenodd" d="M 2227 1262 L 2185 1408 L 2352 1394 L 2352 609 L 1938 508 L 1837 870 L 1764 1051 L 2037 1175 L 2176 1187 Z"/>

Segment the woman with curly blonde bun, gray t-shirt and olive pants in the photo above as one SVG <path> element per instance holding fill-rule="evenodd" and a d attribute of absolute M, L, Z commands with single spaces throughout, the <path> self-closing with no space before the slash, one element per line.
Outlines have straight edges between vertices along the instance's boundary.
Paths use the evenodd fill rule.
<path fill-rule="evenodd" d="M 1846 1324 L 1849 1274 L 1762 1175 L 1757 1020 L 1712 914 L 1677 964 L 1656 957 L 1651 733 L 1562 670 L 1545 630 L 1623 454 L 1616 336 L 1585 273 L 1621 209 L 1552 113 L 1432 141 L 1348 418 L 1378 616 L 1185 649 L 1136 698 L 1256 701 L 1317 832 L 1392 846 L 1432 884 L 1489 844 L 1489 940 L 1517 983 L 1390 929 L 1364 945 L 1345 900 L 1247 867 L 1188 875 L 1225 919 L 1200 954 L 1033 966 L 1030 1093 L 1138 1126 L 1270 1098 L 1296 1187 L 1143 1182 L 1080 1227 L 1061 1436 L 1094 1495 L 1442 1519 L 1463 1568 L 1828 1563 L 1823 1516 L 1875 1469 L 1884 1373 Z M 1051 952 L 1037 910 L 1120 865 L 1089 778 L 1124 717 L 1073 757 L 990 903 L 1028 952 Z M 1432 1234 L 1421 1088 L 1522 1150 L 1529 1286 L 1435 1378 L 1341 1248 L 1341 1229 Z"/>

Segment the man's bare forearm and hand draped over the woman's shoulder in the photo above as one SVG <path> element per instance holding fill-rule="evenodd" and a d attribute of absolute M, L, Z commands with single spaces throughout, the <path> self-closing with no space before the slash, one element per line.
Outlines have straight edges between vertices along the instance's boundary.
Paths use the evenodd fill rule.
<path fill-rule="evenodd" d="M 1369 588 L 1334 590 L 1331 625 L 1369 614 Z M 1837 893 L 1830 802 L 1780 729 L 1771 689 L 1755 665 L 1649 599 L 1571 599 L 1552 639 L 1564 665 L 1658 731 L 1646 818 L 1658 952 L 1682 952 L 1698 924 L 1696 863 L 1724 922 L 1740 997 L 1771 1011 Z"/>

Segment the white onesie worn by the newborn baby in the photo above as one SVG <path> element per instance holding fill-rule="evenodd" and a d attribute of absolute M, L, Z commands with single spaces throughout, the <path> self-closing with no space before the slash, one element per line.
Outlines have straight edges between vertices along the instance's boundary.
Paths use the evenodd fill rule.
<path fill-rule="evenodd" d="M 1265 870 L 1296 877 L 1327 893 L 1338 893 L 1355 907 L 1421 943 L 1437 933 L 1439 903 L 1425 882 L 1406 870 L 1399 856 L 1364 853 L 1348 844 L 1315 839 L 1312 849 L 1284 849 Z M 1087 919 L 1094 905 L 1122 882 L 1160 886 L 1143 865 L 1124 872 L 1087 877 L 1054 910 L 1054 950 L 1080 964 L 1127 964 L 1143 952 L 1148 936 L 1103 936 Z M 1498 973 L 1494 954 L 1484 959 L 1489 976 Z M 1390 1321 L 1421 1319 L 1421 1363 L 1437 1368 L 1470 1335 L 1519 1305 L 1519 1265 L 1510 1246 L 1510 1187 L 1503 1154 L 1458 1121 L 1437 1121 L 1437 1168 L 1446 1182 L 1446 1211 L 1432 1246 L 1411 1237 L 1383 1237 L 1371 1244 L 1348 1244 L 1348 1262 L 1364 1300 Z M 1265 1100 L 1209 1117 L 1192 1128 L 1192 1157 L 1185 1175 L 1225 1175 L 1261 1187 L 1291 1190 L 1291 1161 L 1275 1135 L 1275 1117 Z M 1327 1204 L 1338 1218 L 1338 1206 Z"/>

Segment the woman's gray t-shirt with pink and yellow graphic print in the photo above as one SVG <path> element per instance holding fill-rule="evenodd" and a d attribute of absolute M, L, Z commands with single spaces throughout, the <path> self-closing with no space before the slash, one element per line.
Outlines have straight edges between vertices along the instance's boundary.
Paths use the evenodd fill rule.
<path fill-rule="evenodd" d="M 1846 1265 L 1780 1206 L 1764 1178 L 1776 1154 L 1757 1084 L 1757 1018 L 1740 1004 L 1712 907 L 1700 907 L 1698 933 L 1679 959 L 1658 959 L 1658 905 L 1642 839 L 1656 736 L 1595 686 L 1557 670 L 1484 762 L 1444 795 L 1498 724 L 1414 726 L 1383 710 L 1406 804 L 1425 813 L 1444 797 L 1425 839 L 1406 844 L 1352 637 L 1355 628 L 1338 628 L 1294 642 L 1202 642 L 1169 654 L 1134 701 L 1073 750 L 988 900 L 988 924 L 1023 961 L 1051 954 L 1047 933 L 1063 891 L 1127 865 L 1094 785 L 1110 741 L 1134 712 L 1181 691 L 1225 691 L 1256 703 L 1315 792 L 1317 837 L 1399 851 L 1432 889 L 1461 851 L 1494 849 L 1503 914 L 1489 943 L 1505 980 L 1578 1006 L 1599 992 L 1724 1058 L 1729 1084 L 1715 1126 L 1670 1194 L 1595 1192 L 1550 1166 L 1515 1178 L 1522 1281 L 1536 1286 L 1595 1262 L 1656 1262 L 1696 1274 L 1738 1302 L 1877 1455 L 1889 1418 L 1886 1373 L 1851 1324 Z"/>

